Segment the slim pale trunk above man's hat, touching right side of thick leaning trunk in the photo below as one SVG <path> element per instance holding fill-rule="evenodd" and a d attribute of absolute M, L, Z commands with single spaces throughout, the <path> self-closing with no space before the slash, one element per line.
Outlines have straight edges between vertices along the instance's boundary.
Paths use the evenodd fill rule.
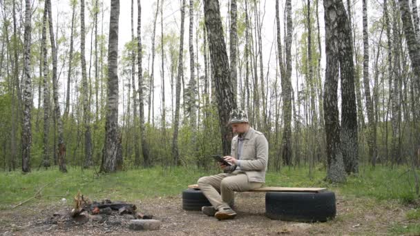
<path fill-rule="evenodd" d="M 230 56 L 230 63 L 231 63 L 231 83 L 233 87 L 233 97 L 235 100 L 237 99 L 238 93 L 236 92 L 238 89 L 238 78 L 236 75 L 236 47 L 238 46 L 238 28 L 236 26 L 236 18 L 237 18 L 237 8 L 236 8 L 236 0 L 231 0 L 231 8 L 230 8 L 230 19 L 231 19 L 231 26 L 229 31 L 229 56 Z"/>

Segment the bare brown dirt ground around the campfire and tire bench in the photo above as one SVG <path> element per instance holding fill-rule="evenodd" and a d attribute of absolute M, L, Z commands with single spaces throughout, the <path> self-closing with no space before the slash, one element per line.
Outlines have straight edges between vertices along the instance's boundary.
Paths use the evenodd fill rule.
<path fill-rule="evenodd" d="M 34 200 L 35 202 L 37 200 Z M 106 222 L 45 224 L 53 213 L 66 213 L 68 204 L 54 200 L 13 210 L 0 210 L 0 235 L 389 235 L 394 224 L 408 224 L 408 206 L 397 202 L 343 197 L 336 193 L 336 218 L 325 223 L 283 222 L 265 217 L 264 193 L 236 193 L 235 219 L 218 221 L 199 211 L 182 210 L 181 195 L 130 202 L 137 212 L 162 222 L 160 230 L 133 231 Z"/>

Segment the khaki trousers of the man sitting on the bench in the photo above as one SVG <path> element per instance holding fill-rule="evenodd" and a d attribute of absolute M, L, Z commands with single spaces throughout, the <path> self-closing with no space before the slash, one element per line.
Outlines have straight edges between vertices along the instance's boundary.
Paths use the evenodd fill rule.
<path fill-rule="evenodd" d="M 249 182 L 247 175 L 240 170 L 201 177 L 197 184 L 217 210 L 233 206 L 234 192 L 245 192 L 262 186 L 262 183 Z"/>

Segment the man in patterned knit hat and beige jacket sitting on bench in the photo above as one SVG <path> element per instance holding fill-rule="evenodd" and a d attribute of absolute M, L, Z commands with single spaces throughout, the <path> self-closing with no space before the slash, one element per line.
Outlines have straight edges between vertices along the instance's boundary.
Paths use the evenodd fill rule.
<path fill-rule="evenodd" d="M 228 125 L 238 134 L 232 139 L 231 155 L 223 157 L 231 166 L 220 164 L 224 173 L 198 179 L 198 186 L 212 205 L 203 206 L 202 213 L 219 220 L 236 216 L 231 209 L 234 192 L 245 192 L 264 184 L 268 161 L 267 139 L 249 126 L 243 110 L 233 110 Z"/>

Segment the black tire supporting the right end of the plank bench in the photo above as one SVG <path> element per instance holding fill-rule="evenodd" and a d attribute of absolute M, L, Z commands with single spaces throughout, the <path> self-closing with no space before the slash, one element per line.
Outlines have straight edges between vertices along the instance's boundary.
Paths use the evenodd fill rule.
<path fill-rule="evenodd" d="M 336 197 L 324 193 L 266 193 L 265 215 L 270 219 L 326 222 L 336 216 Z"/>

